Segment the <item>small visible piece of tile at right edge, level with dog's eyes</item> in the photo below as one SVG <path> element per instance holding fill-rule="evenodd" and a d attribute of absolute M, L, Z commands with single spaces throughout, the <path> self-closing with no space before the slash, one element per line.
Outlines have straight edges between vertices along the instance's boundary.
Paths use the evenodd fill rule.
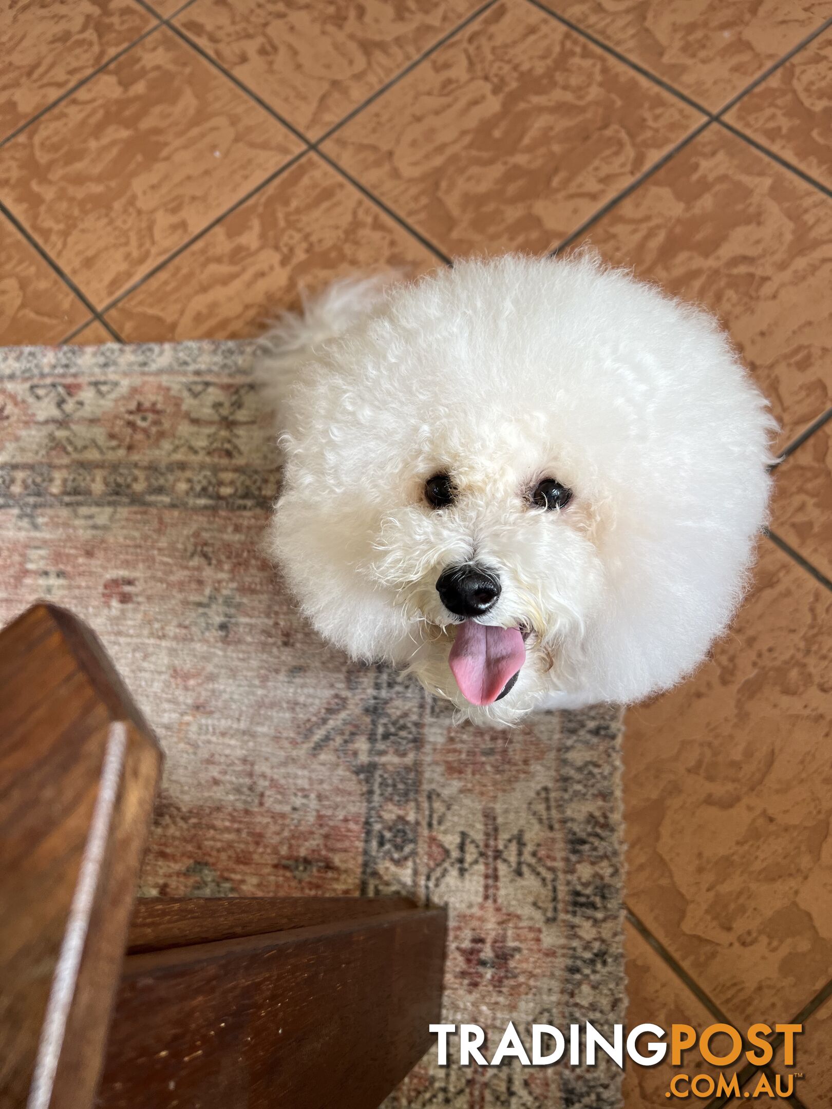
<path fill-rule="evenodd" d="M 775 488 L 772 531 L 832 581 L 832 421 L 778 466 Z"/>

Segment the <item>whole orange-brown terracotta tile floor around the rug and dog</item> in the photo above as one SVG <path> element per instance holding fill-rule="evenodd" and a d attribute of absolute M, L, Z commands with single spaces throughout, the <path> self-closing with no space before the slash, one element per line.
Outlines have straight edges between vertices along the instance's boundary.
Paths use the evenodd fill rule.
<path fill-rule="evenodd" d="M 630 1019 L 799 1017 L 831 1107 L 832 0 L 11 0 L 0 54 L 0 343 L 584 242 L 720 314 L 785 458 L 731 634 L 628 716 Z"/>

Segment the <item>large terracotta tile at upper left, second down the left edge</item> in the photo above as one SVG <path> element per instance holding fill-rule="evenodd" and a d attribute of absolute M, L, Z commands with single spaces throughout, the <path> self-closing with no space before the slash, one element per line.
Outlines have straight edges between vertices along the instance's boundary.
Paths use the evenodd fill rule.
<path fill-rule="evenodd" d="M 163 27 L 0 151 L 0 195 L 101 307 L 300 149 Z"/>

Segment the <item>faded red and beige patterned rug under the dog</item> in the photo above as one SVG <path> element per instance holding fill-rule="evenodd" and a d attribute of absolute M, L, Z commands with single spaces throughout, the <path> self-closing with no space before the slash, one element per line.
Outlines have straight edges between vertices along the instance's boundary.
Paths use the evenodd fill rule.
<path fill-rule="evenodd" d="M 166 752 L 148 894 L 404 892 L 448 905 L 445 1019 L 623 1019 L 619 716 L 453 726 L 348 664 L 260 553 L 273 434 L 241 344 L 0 353 L 0 623 L 98 631 Z M 526 1040 L 529 1042 L 529 1039 Z M 453 1042 L 453 1041 L 451 1041 Z M 620 1103 L 620 1075 L 435 1065 L 387 1105 Z"/>

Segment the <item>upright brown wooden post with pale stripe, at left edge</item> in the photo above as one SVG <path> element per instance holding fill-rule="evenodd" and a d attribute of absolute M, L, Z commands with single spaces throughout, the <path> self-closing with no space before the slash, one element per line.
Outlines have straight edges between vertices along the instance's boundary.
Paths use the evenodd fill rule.
<path fill-rule="evenodd" d="M 0 634 L 0 1105 L 92 1105 L 161 764 L 95 637 Z"/>

